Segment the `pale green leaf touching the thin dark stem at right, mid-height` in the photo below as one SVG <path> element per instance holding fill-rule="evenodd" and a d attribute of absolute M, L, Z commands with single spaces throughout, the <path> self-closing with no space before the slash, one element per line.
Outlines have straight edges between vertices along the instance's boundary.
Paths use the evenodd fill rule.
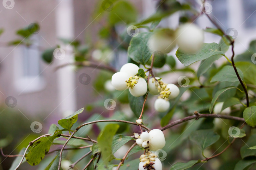
<path fill-rule="evenodd" d="M 241 79 L 243 79 L 243 72 L 237 68 L 237 72 Z M 231 65 L 225 65 L 220 71 L 218 71 L 211 79 L 210 82 L 237 82 L 239 81 L 234 68 Z"/>

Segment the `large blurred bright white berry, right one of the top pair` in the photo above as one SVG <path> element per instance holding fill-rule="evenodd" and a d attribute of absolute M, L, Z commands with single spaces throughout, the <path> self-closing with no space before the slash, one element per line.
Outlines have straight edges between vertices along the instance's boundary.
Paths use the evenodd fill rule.
<path fill-rule="evenodd" d="M 195 54 L 203 45 L 204 32 L 197 25 L 186 23 L 176 31 L 176 41 L 182 51 Z"/>

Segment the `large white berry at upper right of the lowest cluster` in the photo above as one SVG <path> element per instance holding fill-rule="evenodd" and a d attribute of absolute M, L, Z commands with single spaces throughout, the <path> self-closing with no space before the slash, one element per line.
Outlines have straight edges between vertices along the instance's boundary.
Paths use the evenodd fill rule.
<path fill-rule="evenodd" d="M 149 132 L 149 149 L 156 151 L 162 149 L 165 145 L 164 134 L 159 129 L 153 129 Z"/>

